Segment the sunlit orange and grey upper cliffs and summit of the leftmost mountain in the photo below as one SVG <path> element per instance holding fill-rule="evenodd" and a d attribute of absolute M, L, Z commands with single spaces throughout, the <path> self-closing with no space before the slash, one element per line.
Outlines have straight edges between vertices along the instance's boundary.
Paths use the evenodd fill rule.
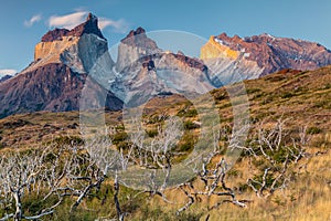
<path fill-rule="evenodd" d="M 108 53 L 107 40 L 98 28 L 98 19 L 89 13 L 86 22 L 73 30 L 49 31 L 35 45 L 34 62 L 25 71 L 50 63 L 63 63 L 74 72 L 88 73 L 105 53 Z M 111 60 L 108 62 L 114 63 Z"/>

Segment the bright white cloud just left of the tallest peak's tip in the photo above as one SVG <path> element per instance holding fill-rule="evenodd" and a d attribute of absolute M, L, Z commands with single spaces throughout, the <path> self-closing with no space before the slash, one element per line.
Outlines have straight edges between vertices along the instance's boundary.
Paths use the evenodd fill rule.
<path fill-rule="evenodd" d="M 65 29 L 73 29 L 79 23 L 83 23 L 87 17 L 87 11 L 78 11 L 74 13 L 70 13 L 66 15 L 52 15 L 49 19 L 49 27 L 51 28 L 65 28 Z"/>

